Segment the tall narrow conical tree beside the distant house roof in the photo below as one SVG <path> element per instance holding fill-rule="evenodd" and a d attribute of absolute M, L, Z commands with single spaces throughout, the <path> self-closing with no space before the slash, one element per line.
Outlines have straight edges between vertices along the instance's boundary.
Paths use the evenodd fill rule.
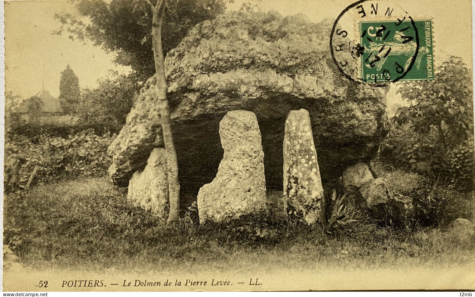
<path fill-rule="evenodd" d="M 61 71 L 61 80 L 59 81 L 59 101 L 61 107 L 67 114 L 72 114 L 76 110 L 79 101 L 79 79 L 74 74 L 69 65 Z"/>

